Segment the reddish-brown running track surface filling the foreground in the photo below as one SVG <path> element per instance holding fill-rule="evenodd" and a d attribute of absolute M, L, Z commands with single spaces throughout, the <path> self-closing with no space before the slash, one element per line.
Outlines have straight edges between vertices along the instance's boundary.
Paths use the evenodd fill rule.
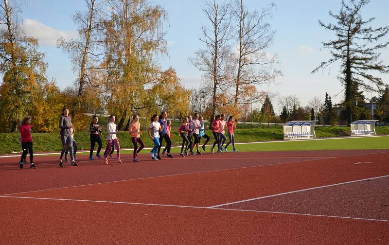
<path fill-rule="evenodd" d="M 358 185 L 362 182 L 345 187 L 354 197 L 336 190 L 343 186 L 338 185 L 316 189 L 317 195 L 315 191 L 298 192 L 298 198 L 279 195 L 274 205 L 263 199 L 266 205 L 251 201 L 207 208 L 389 175 L 388 157 L 385 151 L 228 153 L 159 162 L 146 161 L 143 156 L 141 164 L 108 166 L 85 161 L 64 168 L 57 167 L 56 157 L 42 157 L 35 170 L 18 170 L 10 161 L 1 161 L 0 194 L 26 193 L 0 197 L 0 235 L 5 238 L 0 243 L 388 244 L 388 214 L 370 215 L 366 211 L 369 205 L 356 209 L 364 214 L 360 217 L 347 213 L 338 202 L 331 204 L 337 217 L 312 216 L 323 214 L 315 210 L 329 196 L 353 200 L 376 192 L 385 195 L 387 188 L 382 182 L 386 177 L 372 180 L 380 184 L 359 194 L 355 192 L 361 190 Z M 369 163 L 355 164 L 358 162 Z M 102 183 L 108 181 L 117 182 Z M 71 187 L 75 185 L 84 186 Z M 38 191 L 43 189 L 51 190 Z M 305 210 L 307 215 L 294 214 L 293 209 L 280 205 L 304 197 L 305 202 L 289 207 L 303 205 L 300 212 Z M 386 200 L 383 197 L 382 202 Z"/>

